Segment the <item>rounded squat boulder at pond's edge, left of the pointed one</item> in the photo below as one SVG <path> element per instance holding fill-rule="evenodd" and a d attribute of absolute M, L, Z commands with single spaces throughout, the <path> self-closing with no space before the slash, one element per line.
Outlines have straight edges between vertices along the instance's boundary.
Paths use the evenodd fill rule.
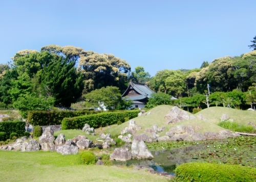
<path fill-rule="evenodd" d="M 110 160 L 127 161 L 132 159 L 132 153 L 128 148 L 115 148 L 110 155 Z"/>

